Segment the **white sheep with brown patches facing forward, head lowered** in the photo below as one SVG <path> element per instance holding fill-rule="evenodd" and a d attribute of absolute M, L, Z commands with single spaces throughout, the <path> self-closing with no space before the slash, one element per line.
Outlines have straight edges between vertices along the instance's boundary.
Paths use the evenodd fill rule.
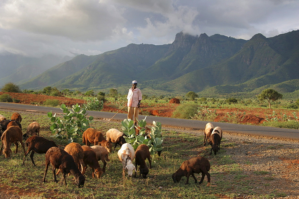
<path fill-rule="evenodd" d="M 125 177 L 125 170 L 128 170 L 128 177 L 132 177 L 133 170 L 136 171 L 136 167 L 132 163 L 135 158 L 135 151 L 131 144 L 125 143 L 118 150 L 118 158 L 123 164 L 123 178 Z"/>

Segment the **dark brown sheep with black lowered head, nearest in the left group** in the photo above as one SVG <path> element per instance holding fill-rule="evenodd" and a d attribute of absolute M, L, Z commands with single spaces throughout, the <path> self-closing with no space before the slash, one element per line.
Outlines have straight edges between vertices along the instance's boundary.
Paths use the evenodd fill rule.
<path fill-rule="evenodd" d="M 36 137 L 36 136 L 33 136 Z M 68 154 L 65 150 L 62 150 L 58 147 L 51 147 L 45 155 L 45 162 L 46 162 L 46 168 L 45 168 L 45 174 L 44 178 L 42 179 L 43 182 L 46 181 L 46 174 L 48 171 L 49 164 L 51 163 L 53 166 L 53 176 L 54 176 L 54 182 L 58 182 L 56 179 L 56 169 L 60 169 L 63 175 L 63 180 L 66 184 L 65 180 L 65 174 L 71 172 L 72 175 L 75 177 L 75 183 L 79 188 L 84 186 L 85 177 L 78 169 L 78 166 L 76 165 L 74 158 Z"/>

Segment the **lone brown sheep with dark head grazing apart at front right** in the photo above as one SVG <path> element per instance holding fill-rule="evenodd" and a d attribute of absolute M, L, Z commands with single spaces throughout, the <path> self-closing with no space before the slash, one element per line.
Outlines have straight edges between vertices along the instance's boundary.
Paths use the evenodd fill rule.
<path fill-rule="evenodd" d="M 174 183 L 177 183 L 181 180 L 182 176 L 187 177 L 187 181 L 185 184 L 189 183 L 189 177 L 192 175 L 194 178 L 195 183 L 197 183 L 197 180 L 194 176 L 194 173 L 199 174 L 202 173 L 202 179 L 199 181 L 199 184 L 201 184 L 205 178 L 205 175 L 208 177 L 208 184 L 207 186 L 210 186 L 210 174 L 208 171 L 210 170 L 210 162 L 207 158 L 204 157 L 195 157 L 191 158 L 189 160 L 184 161 L 181 164 L 181 167 L 172 175 L 172 179 Z"/>

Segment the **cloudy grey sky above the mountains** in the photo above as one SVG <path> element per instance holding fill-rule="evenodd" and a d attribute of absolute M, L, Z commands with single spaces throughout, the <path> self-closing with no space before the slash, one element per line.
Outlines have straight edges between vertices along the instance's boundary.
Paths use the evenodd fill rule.
<path fill-rule="evenodd" d="M 298 0 L 1 0 L 0 55 L 99 55 L 176 33 L 249 40 L 299 29 Z"/>

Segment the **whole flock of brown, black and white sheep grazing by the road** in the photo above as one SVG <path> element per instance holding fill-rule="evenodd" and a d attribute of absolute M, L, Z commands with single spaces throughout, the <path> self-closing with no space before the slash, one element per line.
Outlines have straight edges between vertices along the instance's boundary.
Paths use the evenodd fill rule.
<path fill-rule="evenodd" d="M 42 180 L 43 182 L 45 182 L 50 163 L 53 166 L 54 182 L 56 183 L 58 182 L 56 175 L 58 175 L 59 172 L 63 175 L 61 183 L 64 181 L 65 185 L 66 174 L 71 173 L 74 175 L 74 181 L 77 186 L 79 188 L 83 187 L 85 182 L 84 175 L 87 166 L 92 169 L 92 177 L 100 178 L 103 175 L 103 172 L 106 171 L 106 161 L 110 161 L 109 153 L 112 152 L 112 143 L 115 144 L 114 150 L 117 144 L 120 145 L 120 150 L 118 150 L 117 154 L 123 165 L 123 177 L 125 177 L 126 170 L 128 171 L 128 177 L 132 177 L 133 171 L 135 171 L 136 177 L 136 168 L 139 166 L 139 177 L 142 175 L 143 178 L 146 178 L 149 173 L 149 168 L 152 168 L 149 147 L 145 144 L 141 144 L 135 151 L 131 144 L 126 143 L 123 132 L 120 132 L 115 128 L 106 132 L 106 139 L 100 131 L 97 131 L 94 128 L 88 128 L 83 132 L 82 136 L 82 143 L 86 145 L 81 146 L 80 144 L 73 142 L 63 147 L 61 145 L 57 146 L 52 140 L 39 136 L 40 126 L 37 122 L 32 122 L 28 126 L 26 133 L 22 135 L 21 121 L 22 117 L 18 113 L 13 113 L 11 119 L 6 119 L 4 116 L 0 115 L 0 136 L 2 141 L 0 154 L 4 147 L 3 154 L 5 158 L 10 157 L 10 153 L 12 153 L 10 149 L 12 142 L 16 145 L 15 153 L 17 153 L 19 145 L 18 142 L 20 142 L 24 150 L 22 165 L 25 165 L 25 158 L 31 151 L 30 159 L 32 164 L 36 166 L 33 160 L 34 153 L 45 153 L 46 167 Z M 139 133 L 140 129 L 140 127 L 135 127 L 136 134 Z M 150 129 L 146 127 L 146 135 L 149 135 L 149 133 Z M 210 155 L 212 154 L 212 150 L 216 155 L 220 149 L 221 139 L 221 128 L 214 128 L 211 123 L 207 123 L 205 128 L 204 146 L 208 141 L 208 144 L 211 145 Z M 28 147 L 26 152 L 23 140 L 26 140 L 25 145 Z M 90 144 L 93 144 L 94 146 L 90 147 Z M 161 153 L 161 151 L 159 152 Z M 159 156 L 160 153 L 158 153 Z M 134 159 L 135 165 L 133 164 Z M 149 161 L 149 168 L 147 167 L 146 159 Z M 100 160 L 103 162 L 103 167 L 100 167 L 98 162 Z M 58 169 L 57 173 L 56 169 Z M 210 162 L 208 159 L 204 157 L 195 157 L 184 161 L 179 170 L 172 175 L 172 178 L 173 181 L 177 183 L 181 180 L 182 176 L 186 176 L 186 184 L 188 184 L 189 177 L 192 175 L 195 183 L 197 183 L 194 173 L 199 174 L 201 172 L 202 178 L 199 181 L 199 184 L 203 182 L 205 175 L 207 175 L 207 186 L 210 186 L 209 170 Z"/>

